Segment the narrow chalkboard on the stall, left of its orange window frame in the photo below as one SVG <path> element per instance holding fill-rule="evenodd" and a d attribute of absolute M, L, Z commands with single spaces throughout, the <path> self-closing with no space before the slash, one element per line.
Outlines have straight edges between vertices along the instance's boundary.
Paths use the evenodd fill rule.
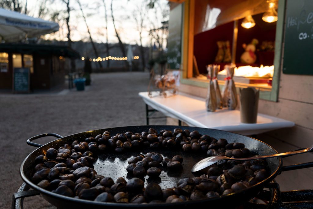
<path fill-rule="evenodd" d="M 171 69 L 179 69 L 182 45 L 182 4 L 177 5 L 170 13 L 167 39 L 167 63 Z"/>

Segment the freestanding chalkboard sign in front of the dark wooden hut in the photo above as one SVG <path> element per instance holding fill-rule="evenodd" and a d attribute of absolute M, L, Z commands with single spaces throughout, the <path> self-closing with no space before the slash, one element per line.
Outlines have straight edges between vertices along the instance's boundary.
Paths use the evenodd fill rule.
<path fill-rule="evenodd" d="M 29 92 L 29 68 L 13 69 L 13 92 Z"/>

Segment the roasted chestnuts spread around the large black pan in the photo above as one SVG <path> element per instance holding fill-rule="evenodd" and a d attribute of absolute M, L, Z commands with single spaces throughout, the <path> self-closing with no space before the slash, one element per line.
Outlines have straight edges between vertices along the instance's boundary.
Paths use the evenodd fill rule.
<path fill-rule="evenodd" d="M 124 152 L 142 147 L 182 149 L 185 152 L 203 152 L 207 156 L 226 155 L 233 158 L 253 156 L 242 143 L 228 143 L 197 131 L 176 128 L 157 133 L 150 128 L 142 133 L 120 133 L 114 136 L 105 131 L 95 137 L 50 148 L 35 159 L 32 180 L 38 186 L 54 193 L 80 199 L 118 203 L 175 203 L 219 197 L 240 191 L 263 181 L 267 176 L 262 159 L 251 161 L 223 160 L 208 169 L 207 174 L 182 178 L 174 188 L 163 189 L 157 183 L 144 187 L 143 175 L 158 177 L 160 166 L 169 170 L 182 169 L 183 158 L 172 159 L 149 152 L 129 159 L 126 170 L 135 177 L 126 181 L 119 177 L 98 175 L 93 169 L 97 153 L 115 150 Z M 162 163 L 162 165 L 161 165 Z"/>

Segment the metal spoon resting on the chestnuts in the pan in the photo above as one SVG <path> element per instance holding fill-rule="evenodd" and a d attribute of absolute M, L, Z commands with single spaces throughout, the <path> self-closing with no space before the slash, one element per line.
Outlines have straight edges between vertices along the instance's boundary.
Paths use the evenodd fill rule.
<path fill-rule="evenodd" d="M 216 156 L 212 156 L 212 157 L 208 157 L 208 158 L 204 158 L 202 160 L 200 160 L 198 163 L 196 163 L 192 169 L 191 172 L 197 172 L 199 170 L 202 170 L 204 168 L 209 167 L 210 165 L 213 165 L 214 163 L 217 163 L 221 160 L 253 160 L 253 159 L 265 159 L 265 158 L 274 158 L 274 157 L 280 157 L 280 156 L 290 156 L 290 155 L 295 155 L 295 154 L 302 154 L 305 152 L 310 152 L 313 149 L 313 144 L 306 148 L 306 149 L 300 149 L 300 150 L 296 150 L 296 151 L 290 151 L 290 152 L 285 152 L 285 153 L 280 153 L 280 154 L 270 154 L 270 155 L 264 155 L 264 156 L 257 156 L 257 157 L 251 157 L 251 158 L 229 158 L 226 156 L 222 156 L 222 155 L 216 155 Z"/>

